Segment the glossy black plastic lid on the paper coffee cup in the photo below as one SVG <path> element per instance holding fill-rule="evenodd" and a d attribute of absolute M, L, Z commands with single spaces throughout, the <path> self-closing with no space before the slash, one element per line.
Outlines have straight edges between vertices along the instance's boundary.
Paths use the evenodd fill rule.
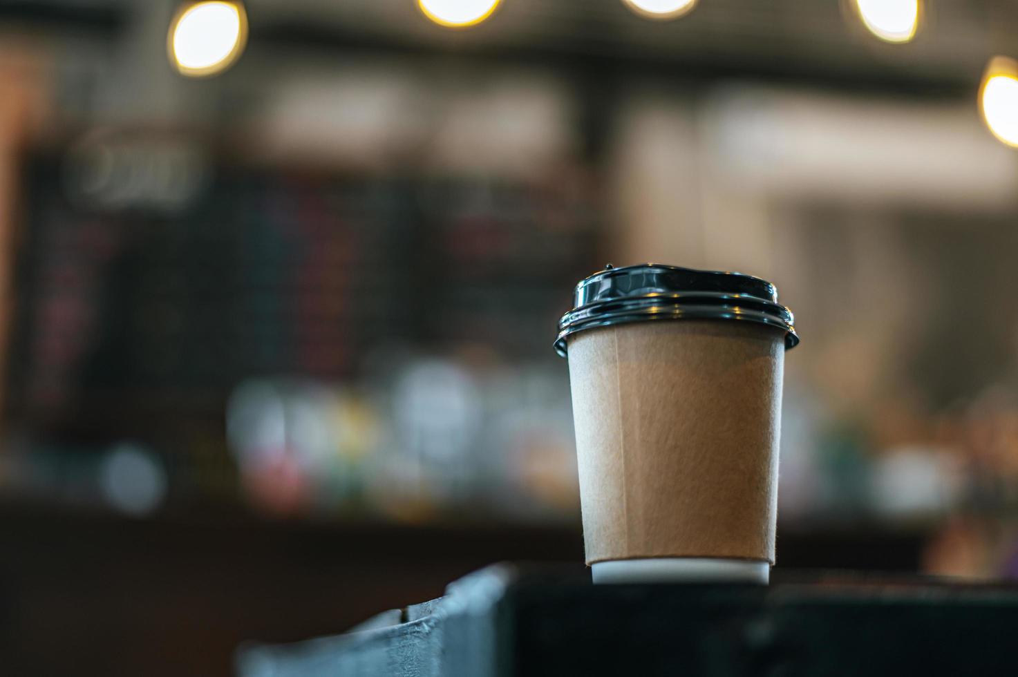
<path fill-rule="evenodd" d="M 613 268 L 580 281 L 573 309 L 559 321 L 555 349 L 566 356 L 566 337 L 584 329 L 649 320 L 742 320 L 785 332 L 785 348 L 799 343 L 792 312 L 778 289 L 752 275 L 640 264 Z"/>

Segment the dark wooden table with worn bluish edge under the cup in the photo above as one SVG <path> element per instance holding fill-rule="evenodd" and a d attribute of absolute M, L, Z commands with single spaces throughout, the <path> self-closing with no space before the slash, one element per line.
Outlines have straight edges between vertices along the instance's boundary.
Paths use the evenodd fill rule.
<path fill-rule="evenodd" d="M 243 677 L 989 675 L 1015 670 L 1018 586 L 819 574 L 592 585 L 499 565 L 346 635 L 238 656 Z"/>

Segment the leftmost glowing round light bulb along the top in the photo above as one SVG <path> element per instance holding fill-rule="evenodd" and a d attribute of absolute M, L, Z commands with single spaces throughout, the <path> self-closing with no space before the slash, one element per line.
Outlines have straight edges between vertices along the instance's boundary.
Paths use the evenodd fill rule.
<path fill-rule="evenodd" d="M 170 24 L 170 62 L 184 75 L 225 70 L 244 49 L 247 17 L 239 2 L 192 2 Z"/>

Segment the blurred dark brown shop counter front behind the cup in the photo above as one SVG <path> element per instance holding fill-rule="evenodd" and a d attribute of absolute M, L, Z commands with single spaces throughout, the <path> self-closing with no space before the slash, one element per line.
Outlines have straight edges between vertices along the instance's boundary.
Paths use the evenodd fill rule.
<path fill-rule="evenodd" d="M 466 512 L 466 511 L 464 511 Z M 0 503 L 6 674 L 226 675 L 244 641 L 341 632 L 493 562 L 587 575 L 578 518 L 399 524 Z M 922 530 L 779 529 L 780 566 L 915 571 Z M 56 647 L 59 651 L 54 651 Z M 9 672 L 8 672 L 9 669 Z"/>

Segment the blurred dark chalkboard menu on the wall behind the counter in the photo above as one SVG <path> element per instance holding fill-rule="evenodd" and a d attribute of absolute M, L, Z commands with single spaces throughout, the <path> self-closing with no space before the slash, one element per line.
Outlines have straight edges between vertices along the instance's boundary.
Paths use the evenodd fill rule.
<path fill-rule="evenodd" d="M 245 378 L 356 380 L 391 344 L 551 359 L 571 286 L 600 262 L 581 181 L 206 173 L 170 209 L 81 201 L 65 156 L 29 164 L 9 417 L 218 418 Z"/>

